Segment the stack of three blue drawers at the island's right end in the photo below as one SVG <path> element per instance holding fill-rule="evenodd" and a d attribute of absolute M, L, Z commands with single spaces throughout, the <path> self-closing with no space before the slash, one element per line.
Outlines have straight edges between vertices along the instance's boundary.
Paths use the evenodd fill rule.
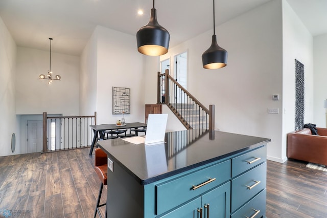
<path fill-rule="evenodd" d="M 266 146 L 231 158 L 231 217 L 266 217 Z"/>

